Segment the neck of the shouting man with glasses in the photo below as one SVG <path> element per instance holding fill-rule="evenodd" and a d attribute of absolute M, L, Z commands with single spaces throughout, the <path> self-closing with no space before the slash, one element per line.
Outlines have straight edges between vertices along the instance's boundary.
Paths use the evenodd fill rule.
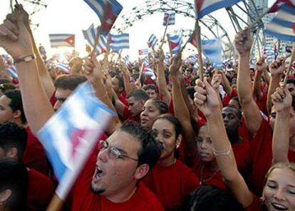
<path fill-rule="evenodd" d="M 136 182 L 137 180 L 134 181 L 132 185 L 129 185 L 129 187 L 124 187 L 121 191 L 115 192 L 114 195 L 105 195 L 105 197 L 111 202 L 115 203 L 126 202 L 130 200 L 130 198 L 133 197 L 133 195 L 135 194 L 138 188 Z"/>

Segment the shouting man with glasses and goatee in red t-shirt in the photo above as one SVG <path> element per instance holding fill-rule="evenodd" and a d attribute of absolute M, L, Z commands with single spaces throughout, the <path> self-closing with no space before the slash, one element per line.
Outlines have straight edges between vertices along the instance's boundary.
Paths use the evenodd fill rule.
<path fill-rule="evenodd" d="M 148 130 L 127 121 L 107 140 L 100 140 L 98 149 L 73 189 L 72 210 L 163 210 L 140 182 L 162 151 Z"/>

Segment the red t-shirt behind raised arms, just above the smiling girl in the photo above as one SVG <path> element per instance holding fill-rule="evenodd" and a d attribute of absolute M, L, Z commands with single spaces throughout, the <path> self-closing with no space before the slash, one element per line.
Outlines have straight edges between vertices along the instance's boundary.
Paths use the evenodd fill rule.
<path fill-rule="evenodd" d="M 252 140 L 252 172 L 249 175 L 249 186 L 258 196 L 262 195 L 264 177 L 272 165 L 272 130 L 269 122 L 262 120 L 257 135 Z M 295 162 L 295 152 L 289 150 L 288 158 L 291 163 Z"/>

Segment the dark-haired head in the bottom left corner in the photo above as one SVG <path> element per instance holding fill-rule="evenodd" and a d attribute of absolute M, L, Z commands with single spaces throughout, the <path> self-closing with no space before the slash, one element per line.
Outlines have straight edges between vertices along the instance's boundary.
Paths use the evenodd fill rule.
<path fill-rule="evenodd" d="M 0 210 L 27 210 L 28 181 L 23 164 L 9 158 L 0 159 Z"/>

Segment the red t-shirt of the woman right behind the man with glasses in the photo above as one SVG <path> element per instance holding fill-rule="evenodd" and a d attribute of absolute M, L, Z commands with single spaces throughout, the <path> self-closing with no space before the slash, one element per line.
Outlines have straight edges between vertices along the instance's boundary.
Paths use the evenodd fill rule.
<path fill-rule="evenodd" d="M 181 210 L 183 200 L 200 185 L 195 173 L 180 160 L 167 167 L 155 165 L 143 182 L 165 210 Z"/>

